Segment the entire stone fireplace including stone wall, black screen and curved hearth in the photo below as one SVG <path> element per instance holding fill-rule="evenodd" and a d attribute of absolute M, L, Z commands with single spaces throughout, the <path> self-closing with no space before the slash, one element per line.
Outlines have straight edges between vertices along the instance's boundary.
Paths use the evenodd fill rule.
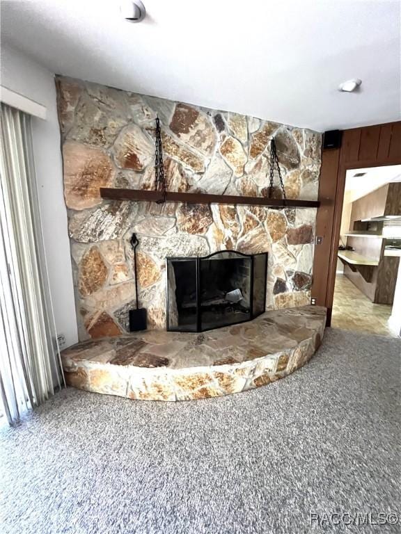
<path fill-rule="evenodd" d="M 266 196 L 274 136 L 287 197 L 316 200 L 320 134 L 84 81 L 56 85 L 80 339 L 62 355 L 68 384 L 187 401 L 264 386 L 308 362 L 326 315 L 309 305 L 316 209 L 111 202 L 100 187 L 155 188 L 158 115 L 168 191 Z M 129 333 L 137 304 L 149 329 Z"/>

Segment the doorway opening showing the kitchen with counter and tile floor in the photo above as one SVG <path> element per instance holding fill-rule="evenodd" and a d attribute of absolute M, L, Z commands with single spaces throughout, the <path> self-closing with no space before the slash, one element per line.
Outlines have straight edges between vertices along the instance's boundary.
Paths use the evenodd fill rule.
<path fill-rule="evenodd" d="M 331 326 L 401 332 L 401 165 L 347 170 Z"/>

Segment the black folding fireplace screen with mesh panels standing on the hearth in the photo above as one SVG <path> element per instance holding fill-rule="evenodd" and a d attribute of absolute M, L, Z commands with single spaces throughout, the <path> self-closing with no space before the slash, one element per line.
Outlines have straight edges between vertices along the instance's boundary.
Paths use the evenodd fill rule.
<path fill-rule="evenodd" d="M 167 258 L 167 330 L 203 332 L 265 312 L 267 253 Z"/>

